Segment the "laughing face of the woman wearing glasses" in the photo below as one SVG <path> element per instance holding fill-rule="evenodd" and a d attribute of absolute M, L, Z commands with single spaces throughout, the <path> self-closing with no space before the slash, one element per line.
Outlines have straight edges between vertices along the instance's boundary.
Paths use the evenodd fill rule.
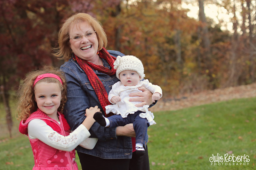
<path fill-rule="evenodd" d="M 72 49 L 73 53 L 79 58 L 92 63 L 95 59 L 98 59 L 97 51 L 99 46 L 97 33 L 93 32 L 94 30 L 92 26 L 86 22 L 77 23 L 76 25 L 70 27 L 69 30 L 69 38 L 76 37 L 76 35 L 83 35 L 82 39 L 79 41 L 69 39 L 70 48 Z M 84 35 L 88 33 L 93 33 L 93 35 L 87 38 Z"/>

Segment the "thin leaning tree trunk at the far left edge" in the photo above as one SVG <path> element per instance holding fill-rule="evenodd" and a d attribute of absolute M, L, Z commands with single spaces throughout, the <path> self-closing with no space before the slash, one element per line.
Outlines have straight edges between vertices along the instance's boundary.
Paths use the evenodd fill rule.
<path fill-rule="evenodd" d="M 6 124 L 9 131 L 10 137 L 12 137 L 12 112 L 11 108 L 9 106 L 9 97 L 7 95 L 7 92 L 4 90 L 4 86 L 1 85 L 1 93 L 4 101 L 4 109 L 6 113 Z"/>

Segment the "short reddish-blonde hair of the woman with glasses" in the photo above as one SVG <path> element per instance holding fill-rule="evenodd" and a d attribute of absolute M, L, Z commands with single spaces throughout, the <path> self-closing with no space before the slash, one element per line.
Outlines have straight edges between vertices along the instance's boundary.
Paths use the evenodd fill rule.
<path fill-rule="evenodd" d="M 92 26 L 93 30 L 96 31 L 97 39 L 99 42 L 98 51 L 102 49 L 102 47 L 107 47 L 107 35 L 104 32 L 104 29 L 101 23 L 96 19 L 93 18 L 91 15 L 86 13 L 76 13 L 65 20 L 62 24 L 59 34 L 58 34 L 58 48 L 53 48 L 54 56 L 58 57 L 59 59 L 68 60 L 72 56 L 72 49 L 70 48 L 69 43 L 69 30 L 72 26 L 76 24 L 86 22 L 90 26 Z"/>

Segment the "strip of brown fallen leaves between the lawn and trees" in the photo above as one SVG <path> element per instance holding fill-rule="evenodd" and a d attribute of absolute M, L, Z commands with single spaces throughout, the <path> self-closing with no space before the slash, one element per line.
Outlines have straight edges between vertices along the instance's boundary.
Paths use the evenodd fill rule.
<path fill-rule="evenodd" d="M 150 107 L 149 110 L 151 112 L 160 110 L 178 110 L 181 108 L 199 106 L 212 102 L 256 97 L 256 83 L 202 92 L 193 92 L 183 94 L 182 96 L 185 97 L 177 96 L 180 100 L 174 100 L 173 97 L 160 99 L 157 101 L 156 106 Z"/>

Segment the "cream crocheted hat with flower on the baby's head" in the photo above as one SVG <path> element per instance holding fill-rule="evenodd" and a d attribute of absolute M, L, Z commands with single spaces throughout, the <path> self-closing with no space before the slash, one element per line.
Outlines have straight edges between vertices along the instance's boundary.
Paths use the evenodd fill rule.
<path fill-rule="evenodd" d="M 119 73 L 124 70 L 133 70 L 140 75 L 140 80 L 145 77 L 143 64 L 137 57 L 133 55 L 117 56 L 114 62 L 116 69 L 116 77 L 120 80 Z"/>

